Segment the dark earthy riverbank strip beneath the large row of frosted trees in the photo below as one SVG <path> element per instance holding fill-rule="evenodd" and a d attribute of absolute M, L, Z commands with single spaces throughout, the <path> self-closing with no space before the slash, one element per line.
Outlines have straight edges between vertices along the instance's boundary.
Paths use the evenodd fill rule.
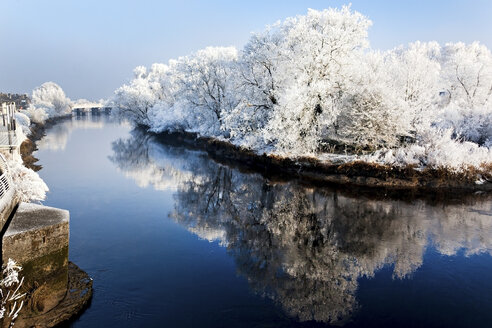
<path fill-rule="evenodd" d="M 141 127 L 142 128 L 142 127 Z M 392 190 L 491 191 L 492 165 L 463 173 L 445 168 L 393 167 L 363 161 L 333 163 L 314 157 L 287 158 L 258 154 L 230 142 L 199 137 L 189 132 L 152 133 L 160 140 L 174 139 L 206 151 L 214 160 L 249 167 L 266 175 L 301 178 L 313 183 L 336 184 Z M 480 180 L 481 179 L 481 180 Z"/>

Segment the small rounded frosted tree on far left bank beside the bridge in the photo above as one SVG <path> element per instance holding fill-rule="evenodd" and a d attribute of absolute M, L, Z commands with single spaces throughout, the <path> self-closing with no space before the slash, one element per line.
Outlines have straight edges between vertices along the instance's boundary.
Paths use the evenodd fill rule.
<path fill-rule="evenodd" d="M 46 82 L 33 90 L 31 106 L 26 113 L 32 122 L 43 123 L 48 118 L 70 114 L 71 100 L 56 83 Z"/>

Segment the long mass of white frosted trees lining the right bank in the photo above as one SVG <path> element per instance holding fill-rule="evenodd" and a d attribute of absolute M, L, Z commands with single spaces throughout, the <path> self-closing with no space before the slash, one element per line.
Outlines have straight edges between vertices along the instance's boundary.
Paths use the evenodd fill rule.
<path fill-rule="evenodd" d="M 350 7 L 309 10 L 238 51 L 209 47 L 137 67 L 113 104 L 155 132 L 183 130 L 258 152 L 453 169 L 492 162 L 492 55 L 478 42 L 369 48 L 371 21 Z M 449 154 L 452 150 L 454 153 Z"/>

